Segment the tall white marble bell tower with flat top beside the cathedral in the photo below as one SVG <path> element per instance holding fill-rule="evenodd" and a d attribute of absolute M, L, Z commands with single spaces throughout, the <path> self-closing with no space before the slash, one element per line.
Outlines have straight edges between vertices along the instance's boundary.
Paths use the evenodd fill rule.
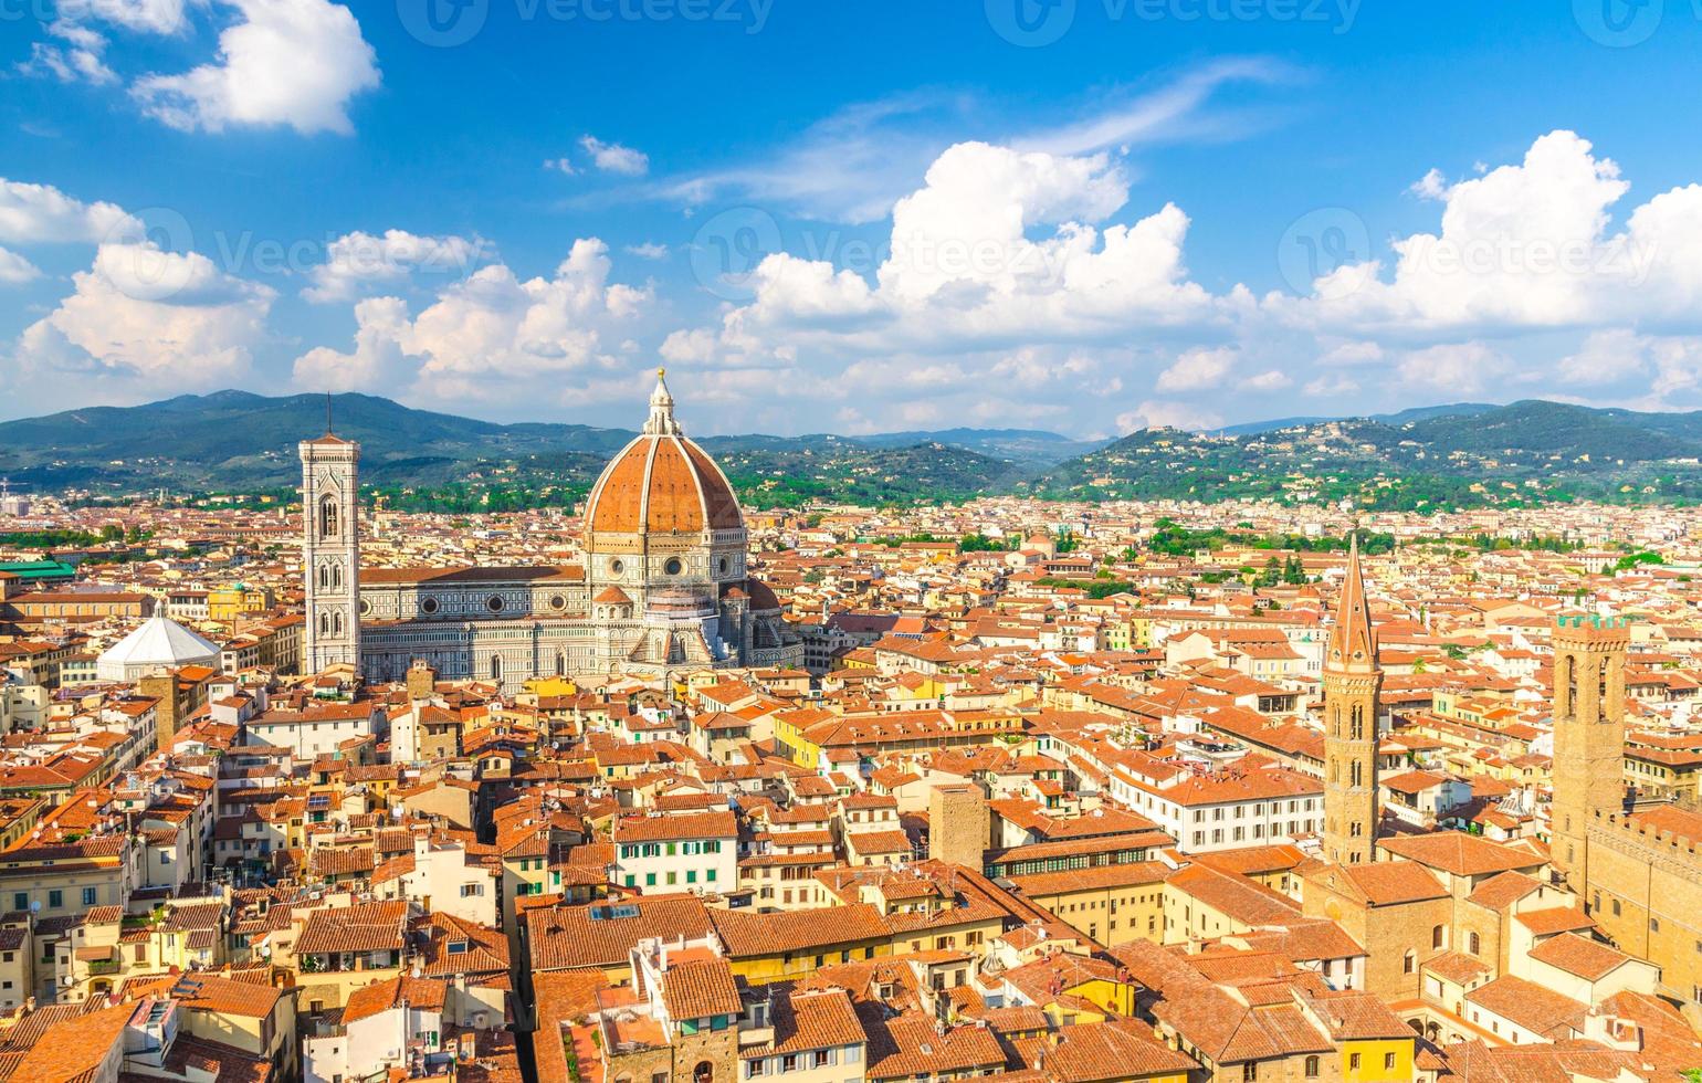
<path fill-rule="evenodd" d="M 361 444 L 330 433 L 301 441 L 301 574 L 306 582 L 303 673 L 361 668 Z"/>

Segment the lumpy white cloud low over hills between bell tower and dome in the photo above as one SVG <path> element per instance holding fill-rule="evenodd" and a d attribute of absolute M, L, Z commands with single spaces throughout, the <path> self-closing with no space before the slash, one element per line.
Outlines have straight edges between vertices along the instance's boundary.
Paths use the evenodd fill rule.
<path fill-rule="evenodd" d="M 352 352 L 311 349 L 294 364 L 301 387 L 340 387 L 443 402 L 563 397 L 568 380 L 628 371 L 625 329 L 652 301 L 648 289 L 609 283 L 608 247 L 574 242 L 553 278 L 521 281 L 504 264 L 480 267 L 443 288 L 408 318 L 398 298 L 368 298 L 356 310 Z"/>

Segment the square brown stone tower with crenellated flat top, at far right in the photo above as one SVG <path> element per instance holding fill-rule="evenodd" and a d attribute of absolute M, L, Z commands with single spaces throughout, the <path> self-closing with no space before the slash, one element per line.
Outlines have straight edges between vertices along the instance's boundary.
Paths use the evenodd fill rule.
<path fill-rule="evenodd" d="M 1562 616 L 1554 628 L 1554 802 L 1551 862 L 1585 894 L 1586 846 L 1595 812 L 1625 805 L 1625 650 L 1617 620 Z"/>

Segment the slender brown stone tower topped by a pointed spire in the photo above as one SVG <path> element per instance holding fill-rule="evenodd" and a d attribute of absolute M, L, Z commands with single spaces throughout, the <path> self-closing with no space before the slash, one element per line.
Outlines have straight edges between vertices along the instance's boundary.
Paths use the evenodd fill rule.
<path fill-rule="evenodd" d="M 1338 865 L 1358 865 L 1377 857 L 1380 688 L 1377 635 L 1365 601 L 1355 535 L 1324 656 L 1324 857 Z"/>

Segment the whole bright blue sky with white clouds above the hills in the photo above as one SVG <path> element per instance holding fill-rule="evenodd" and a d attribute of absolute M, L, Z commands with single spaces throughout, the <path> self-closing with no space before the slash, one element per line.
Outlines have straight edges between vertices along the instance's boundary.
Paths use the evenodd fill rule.
<path fill-rule="evenodd" d="M 12 0 L 0 417 L 1699 409 L 1699 7 Z"/>

